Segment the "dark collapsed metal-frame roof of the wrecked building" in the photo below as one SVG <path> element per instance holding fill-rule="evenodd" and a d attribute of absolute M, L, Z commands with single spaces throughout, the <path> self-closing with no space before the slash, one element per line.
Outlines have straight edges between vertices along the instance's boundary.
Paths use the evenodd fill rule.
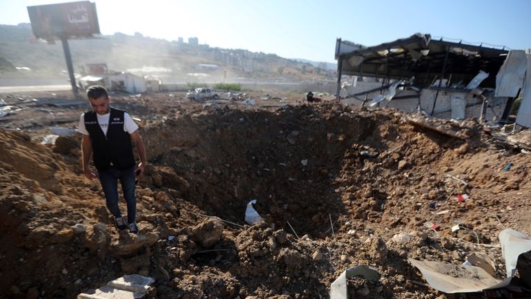
<path fill-rule="evenodd" d="M 341 49 L 349 47 L 347 52 Z M 354 50 L 350 50 L 355 48 Z M 434 79 L 468 82 L 480 70 L 489 73 L 483 86 L 494 87 L 495 77 L 508 50 L 473 46 L 443 39 L 434 40 L 419 33 L 405 39 L 370 47 L 352 47 L 337 40 L 336 59 L 341 75 L 404 79 L 415 77 L 414 84 L 429 86 Z M 340 68 L 341 66 L 341 68 Z"/>

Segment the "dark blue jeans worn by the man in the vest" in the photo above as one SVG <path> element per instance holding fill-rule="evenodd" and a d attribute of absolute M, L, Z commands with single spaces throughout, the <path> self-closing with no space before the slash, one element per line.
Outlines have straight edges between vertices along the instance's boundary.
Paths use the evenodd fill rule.
<path fill-rule="evenodd" d="M 114 166 L 106 171 L 98 171 L 99 182 L 105 194 L 107 209 L 114 217 L 121 217 L 121 211 L 118 206 L 118 180 L 120 180 L 123 198 L 127 203 L 127 221 L 135 222 L 137 217 L 137 199 L 134 197 L 134 186 L 136 177 L 134 175 L 134 166 L 120 171 Z"/>

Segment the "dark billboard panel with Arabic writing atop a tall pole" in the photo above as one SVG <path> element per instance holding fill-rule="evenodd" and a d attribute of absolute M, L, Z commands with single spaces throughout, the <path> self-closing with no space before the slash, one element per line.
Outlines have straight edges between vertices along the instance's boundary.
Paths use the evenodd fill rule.
<path fill-rule="evenodd" d="M 33 34 L 39 38 L 99 34 L 96 3 L 90 1 L 28 6 L 28 14 Z"/>

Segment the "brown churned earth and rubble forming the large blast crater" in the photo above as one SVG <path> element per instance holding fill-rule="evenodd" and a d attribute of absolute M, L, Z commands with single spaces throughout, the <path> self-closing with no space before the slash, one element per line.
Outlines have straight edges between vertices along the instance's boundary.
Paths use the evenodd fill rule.
<path fill-rule="evenodd" d="M 157 298 L 329 298 L 345 269 L 369 264 L 381 280 L 350 281 L 352 298 L 438 298 L 408 258 L 501 264 L 499 231 L 531 233 L 530 155 L 473 119 L 454 124 L 463 139 L 397 110 L 168 101 L 117 100 L 142 118 L 150 160 L 139 235 L 112 227 L 77 137 L 45 146 L 0 130 L 0 297 L 74 298 L 139 273 Z M 265 222 L 249 226 L 252 199 Z"/>

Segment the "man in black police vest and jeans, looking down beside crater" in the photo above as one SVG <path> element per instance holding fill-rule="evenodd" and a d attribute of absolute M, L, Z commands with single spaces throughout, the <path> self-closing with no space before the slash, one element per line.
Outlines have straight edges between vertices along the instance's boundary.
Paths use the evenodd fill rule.
<path fill-rule="evenodd" d="M 90 86 L 87 97 L 92 110 L 79 117 L 78 126 L 79 133 L 83 134 L 83 172 L 90 180 L 99 177 L 107 208 L 114 215 L 117 229 L 122 231 L 128 227 L 130 233 L 138 233 L 134 186 L 136 178 L 146 168 L 146 149 L 138 133 L 139 127 L 128 113 L 109 105 L 110 97 L 102 86 Z M 139 153 L 138 165 L 134 162 L 131 140 Z M 94 157 L 98 175 L 88 166 L 90 155 Z M 127 224 L 118 206 L 118 180 L 127 203 Z"/>

